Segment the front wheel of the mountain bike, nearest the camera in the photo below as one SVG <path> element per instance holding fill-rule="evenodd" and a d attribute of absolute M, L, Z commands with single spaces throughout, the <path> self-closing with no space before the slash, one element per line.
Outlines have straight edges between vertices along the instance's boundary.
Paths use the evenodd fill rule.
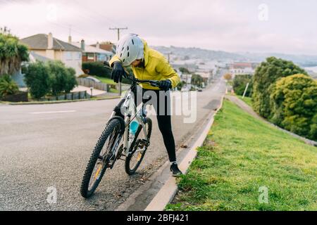
<path fill-rule="evenodd" d="M 111 160 L 116 160 L 112 159 L 113 151 L 116 150 L 113 149 L 113 146 L 116 145 L 115 142 L 120 134 L 120 129 L 120 120 L 114 119 L 108 123 L 102 132 L 82 178 L 80 187 L 82 197 L 89 198 L 94 193 Z"/>

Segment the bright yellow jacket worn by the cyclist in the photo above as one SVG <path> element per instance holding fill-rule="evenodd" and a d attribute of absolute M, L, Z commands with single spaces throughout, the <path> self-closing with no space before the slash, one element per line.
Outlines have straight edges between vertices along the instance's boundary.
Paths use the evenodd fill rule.
<path fill-rule="evenodd" d="M 170 79 L 173 88 L 180 82 L 180 77 L 170 66 L 166 58 L 159 53 L 147 46 L 147 41 L 142 40 L 144 43 L 144 68 L 133 67 L 132 71 L 137 79 L 152 79 L 152 80 L 163 80 Z M 109 61 L 109 65 L 113 67 L 113 63 L 120 61 L 118 56 L 113 56 Z M 149 84 L 140 84 L 144 89 L 159 90 L 158 87 L 151 86 Z"/>

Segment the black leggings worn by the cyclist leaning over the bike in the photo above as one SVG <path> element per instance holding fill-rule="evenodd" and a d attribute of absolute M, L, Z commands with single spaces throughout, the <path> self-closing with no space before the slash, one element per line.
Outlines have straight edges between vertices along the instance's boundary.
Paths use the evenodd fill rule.
<path fill-rule="evenodd" d="M 147 92 L 150 91 L 150 92 Z M 142 98 L 143 94 L 147 92 Z M 161 94 L 160 94 L 161 92 Z M 141 89 L 139 86 L 136 89 L 133 89 L 133 93 L 135 94 L 135 105 L 139 105 L 141 103 L 141 99 L 145 105 L 151 104 L 154 106 L 156 112 L 157 122 L 159 124 L 159 129 L 163 136 L 164 145 L 168 152 L 168 158 L 170 162 L 176 161 L 176 153 L 175 153 L 175 141 L 172 131 L 172 122 L 170 119 L 170 92 L 158 91 L 158 90 L 149 90 L 149 89 Z M 142 94 L 142 96 L 141 96 Z M 148 94 L 148 95 L 147 95 Z M 155 95 L 155 96 L 154 96 Z M 152 98 L 147 98 L 147 96 L 151 96 Z M 164 99 L 165 97 L 165 99 Z M 157 102 L 155 101 L 157 99 Z M 165 101 L 164 101 L 165 100 Z M 160 103 L 164 104 L 164 107 L 161 108 L 160 112 Z M 161 105 L 162 107 L 163 105 Z"/>

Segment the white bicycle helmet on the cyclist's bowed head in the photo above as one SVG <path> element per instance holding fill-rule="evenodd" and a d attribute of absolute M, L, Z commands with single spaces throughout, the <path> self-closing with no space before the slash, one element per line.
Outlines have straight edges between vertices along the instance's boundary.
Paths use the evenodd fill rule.
<path fill-rule="evenodd" d="M 144 44 L 137 34 L 125 34 L 120 38 L 116 50 L 123 66 L 131 65 L 137 59 L 144 58 Z"/>

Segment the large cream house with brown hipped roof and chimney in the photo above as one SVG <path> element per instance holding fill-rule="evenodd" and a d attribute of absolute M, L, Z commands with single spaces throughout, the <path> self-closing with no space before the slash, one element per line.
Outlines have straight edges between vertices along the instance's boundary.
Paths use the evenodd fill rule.
<path fill-rule="evenodd" d="M 82 49 L 61 41 L 49 34 L 35 34 L 31 37 L 20 39 L 33 53 L 51 60 L 61 60 L 66 66 L 75 69 L 76 76 L 82 72 Z"/>

